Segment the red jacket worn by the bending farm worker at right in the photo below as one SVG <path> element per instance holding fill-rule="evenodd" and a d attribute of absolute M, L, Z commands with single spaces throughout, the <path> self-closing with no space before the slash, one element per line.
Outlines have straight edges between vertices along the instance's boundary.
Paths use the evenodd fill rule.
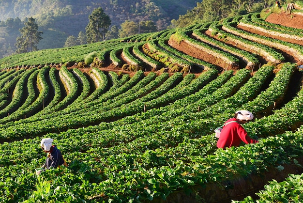
<path fill-rule="evenodd" d="M 231 118 L 225 122 L 237 121 L 235 118 Z M 220 134 L 220 138 L 217 141 L 218 148 L 226 148 L 232 146 L 239 146 L 241 141 L 245 144 L 257 143 L 257 140 L 251 139 L 246 130 L 238 122 L 232 122 L 230 124 L 224 125 Z"/>

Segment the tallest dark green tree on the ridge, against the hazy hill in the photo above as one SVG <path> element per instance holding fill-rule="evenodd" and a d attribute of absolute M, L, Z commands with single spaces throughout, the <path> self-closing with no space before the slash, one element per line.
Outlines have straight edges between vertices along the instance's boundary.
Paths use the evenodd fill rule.
<path fill-rule="evenodd" d="M 89 24 L 86 26 L 87 43 L 99 42 L 105 39 L 105 34 L 111 24 L 109 16 L 107 16 L 101 7 L 92 11 L 89 16 Z"/>

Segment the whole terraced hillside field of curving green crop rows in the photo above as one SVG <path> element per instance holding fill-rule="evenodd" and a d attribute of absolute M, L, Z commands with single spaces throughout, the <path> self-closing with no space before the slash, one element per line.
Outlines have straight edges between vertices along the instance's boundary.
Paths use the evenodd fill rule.
<path fill-rule="evenodd" d="M 1 59 L 0 201 L 299 201 L 302 33 L 252 13 Z M 217 149 L 240 109 L 259 142 Z M 47 137 L 69 167 L 37 176 Z"/>

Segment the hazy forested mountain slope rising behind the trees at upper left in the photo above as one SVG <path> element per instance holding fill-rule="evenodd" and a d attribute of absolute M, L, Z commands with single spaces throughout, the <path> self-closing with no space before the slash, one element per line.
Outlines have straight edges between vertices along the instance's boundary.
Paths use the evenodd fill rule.
<path fill-rule="evenodd" d="M 0 0 L 0 58 L 14 53 L 15 39 L 26 17 L 34 17 L 43 40 L 38 48 L 63 47 L 68 36 L 85 32 L 94 8 L 102 7 L 118 27 L 125 20 L 152 20 L 159 29 L 166 29 L 172 19 L 178 19 L 194 8 L 197 0 Z M 14 21 L 14 26 L 10 27 Z M 17 21 L 18 22 L 18 21 Z"/>

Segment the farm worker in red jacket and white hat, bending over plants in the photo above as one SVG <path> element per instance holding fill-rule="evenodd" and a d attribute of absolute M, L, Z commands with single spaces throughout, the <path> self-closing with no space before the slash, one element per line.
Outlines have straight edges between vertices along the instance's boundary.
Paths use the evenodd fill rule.
<path fill-rule="evenodd" d="M 246 130 L 241 125 L 251 121 L 253 118 L 254 115 L 248 110 L 238 110 L 233 118 L 224 123 L 226 125 L 223 126 L 219 140 L 217 141 L 217 147 L 229 148 L 239 146 L 241 141 L 245 144 L 257 143 L 257 140 L 253 140 L 247 135 Z"/>

